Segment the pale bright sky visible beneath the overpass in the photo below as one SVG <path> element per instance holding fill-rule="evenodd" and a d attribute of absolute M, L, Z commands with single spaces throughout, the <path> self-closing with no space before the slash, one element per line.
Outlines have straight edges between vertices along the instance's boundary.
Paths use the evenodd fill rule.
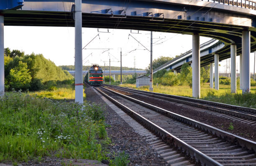
<path fill-rule="evenodd" d="M 133 37 L 128 37 L 129 34 L 144 47 Z M 95 39 L 92 40 L 94 37 Z M 200 37 L 200 44 L 208 40 L 211 38 Z M 192 35 L 153 32 L 153 43 L 153 59 L 161 56 L 175 57 L 192 49 Z M 105 62 L 108 66 L 110 58 L 111 66 L 120 66 L 118 61 L 120 61 L 121 48 L 123 67 L 134 67 L 135 62 L 136 68 L 145 69 L 150 63 L 148 51 L 150 50 L 150 32 L 148 31 L 82 28 L 82 46 L 86 46 L 82 51 L 83 65 L 104 66 Z M 57 66 L 74 65 L 74 27 L 5 26 L 4 47 L 22 50 L 25 54 L 32 52 L 43 54 Z M 239 72 L 239 56 L 236 62 Z M 253 63 L 254 53 L 251 53 L 250 72 L 253 72 Z M 225 60 L 220 62 L 220 72 L 225 72 L 226 64 Z"/>

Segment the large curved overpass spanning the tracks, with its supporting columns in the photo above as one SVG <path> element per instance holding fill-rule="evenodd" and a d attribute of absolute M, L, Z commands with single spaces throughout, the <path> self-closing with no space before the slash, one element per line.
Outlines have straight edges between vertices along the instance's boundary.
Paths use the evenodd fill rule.
<path fill-rule="evenodd" d="M 200 66 L 212 63 L 213 59 L 218 63 L 219 59 L 231 57 L 231 71 L 235 72 L 234 57 L 240 54 L 241 86 L 243 93 L 250 92 L 249 54 L 256 50 L 255 16 L 254 0 L 1 0 L 0 93 L 4 93 L 4 25 L 75 27 L 75 67 L 81 75 L 76 77 L 75 87 L 76 101 L 80 103 L 83 99 L 82 27 L 192 35 L 193 97 L 200 97 Z M 200 36 L 219 40 L 223 47 L 208 52 L 204 56 L 208 60 L 204 60 L 200 57 Z M 152 47 L 150 52 L 152 57 Z M 150 76 L 152 79 L 152 70 Z M 236 92 L 236 79 L 231 79 L 232 92 Z"/>

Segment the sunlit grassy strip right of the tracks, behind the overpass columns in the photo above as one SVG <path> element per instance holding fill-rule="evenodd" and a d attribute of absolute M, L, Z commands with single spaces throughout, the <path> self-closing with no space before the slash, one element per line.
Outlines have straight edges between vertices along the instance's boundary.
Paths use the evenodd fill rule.
<path fill-rule="evenodd" d="M 130 87 L 139 90 L 148 91 L 148 86 L 136 88 L 136 84 L 122 84 L 122 87 Z M 153 85 L 154 92 L 172 94 L 178 96 L 192 97 L 192 88 L 189 86 L 156 86 Z M 230 85 L 220 84 L 220 90 L 211 89 L 209 83 L 201 86 L 201 99 L 213 102 L 220 102 L 243 107 L 256 108 L 256 87 L 251 87 L 250 94 L 241 94 L 242 91 L 237 89 L 236 94 L 230 93 Z M 239 87 L 238 87 L 239 88 Z"/>

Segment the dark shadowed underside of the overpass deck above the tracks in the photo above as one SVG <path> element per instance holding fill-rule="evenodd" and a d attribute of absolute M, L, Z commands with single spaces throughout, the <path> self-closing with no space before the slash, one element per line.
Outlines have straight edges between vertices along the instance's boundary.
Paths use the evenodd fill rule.
<path fill-rule="evenodd" d="M 12 26 L 52 26 L 52 27 L 74 27 L 71 12 L 46 12 L 28 10 L 2 10 L 4 14 L 4 24 Z M 241 36 L 243 30 L 248 27 L 227 25 L 214 22 L 165 19 L 141 16 L 114 15 L 108 14 L 83 13 L 82 27 L 92 28 L 113 28 L 113 29 L 133 29 L 157 32 L 169 32 L 211 37 L 225 43 L 225 47 L 216 52 L 220 55 L 219 59 L 230 57 L 230 44 L 236 43 L 237 55 L 241 54 Z M 256 50 L 256 28 L 249 27 L 251 30 L 251 52 Z M 182 44 L 182 43 L 181 43 Z M 170 50 L 171 51 L 171 50 Z M 201 57 L 201 66 L 209 64 L 214 59 L 210 54 Z"/>

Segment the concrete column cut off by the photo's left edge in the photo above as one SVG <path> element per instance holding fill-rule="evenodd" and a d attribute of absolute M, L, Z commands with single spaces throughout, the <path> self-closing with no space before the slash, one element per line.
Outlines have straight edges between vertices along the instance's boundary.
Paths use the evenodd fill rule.
<path fill-rule="evenodd" d="M 4 17 L 0 15 L 0 97 L 5 94 Z"/>

